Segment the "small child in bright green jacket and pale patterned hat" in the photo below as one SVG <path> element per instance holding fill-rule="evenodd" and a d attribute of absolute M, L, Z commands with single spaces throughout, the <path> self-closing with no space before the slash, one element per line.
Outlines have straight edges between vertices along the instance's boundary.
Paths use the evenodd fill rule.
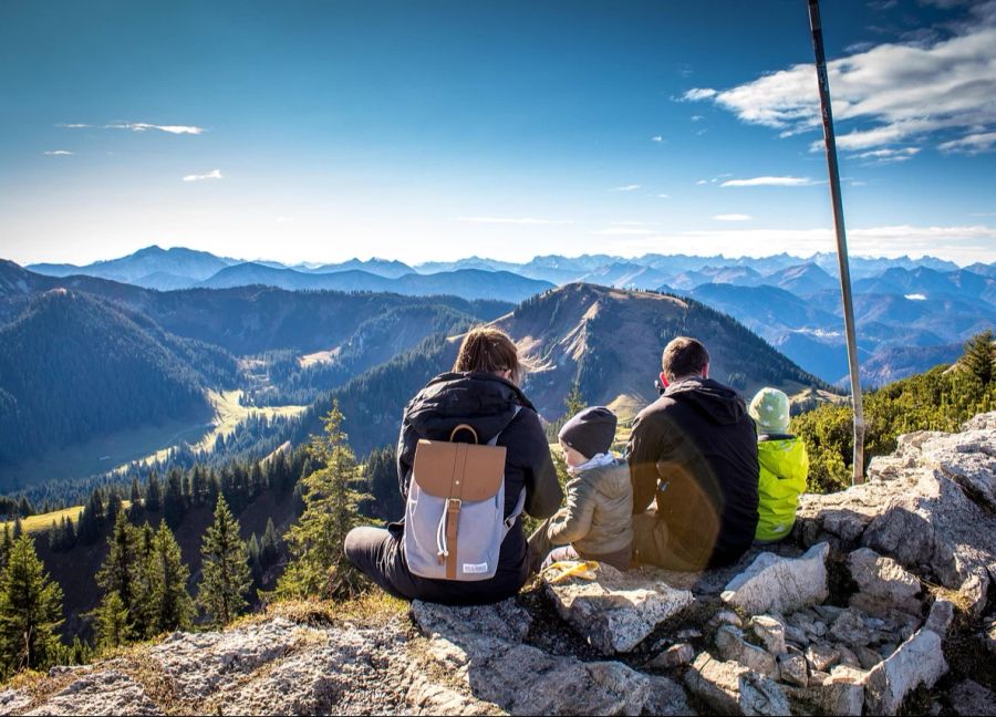
<path fill-rule="evenodd" d="M 785 538 L 796 522 L 799 495 L 806 490 L 809 456 L 806 444 L 789 433 L 789 399 L 778 388 L 765 387 L 750 401 L 747 413 L 757 426 L 759 543 Z"/>

